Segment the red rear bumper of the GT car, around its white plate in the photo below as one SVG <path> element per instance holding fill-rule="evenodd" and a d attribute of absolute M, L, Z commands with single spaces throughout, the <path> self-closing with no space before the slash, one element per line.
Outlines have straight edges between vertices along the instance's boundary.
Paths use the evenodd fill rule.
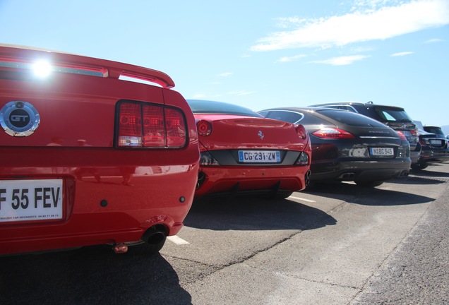
<path fill-rule="evenodd" d="M 56 157 L 49 155 L 48 160 Z M 198 177 L 197 149 L 184 150 L 184 162 L 178 165 L 162 162 L 154 165 L 154 159 L 148 157 L 147 162 L 152 165 L 142 162 L 138 165 L 136 162 L 145 158 L 133 153 L 135 158 L 128 161 L 135 166 L 126 165 L 123 160 L 121 166 L 112 166 L 111 160 L 118 162 L 120 155 L 113 159 L 108 153 L 100 155 L 103 161 L 95 163 L 97 166 L 2 164 L 0 187 L 2 180 L 61 179 L 64 192 L 62 219 L 16 222 L 4 217 L 0 221 L 0 254 L 139 241 L 155 225 L 162 225 L 167 235 L 179 232 L 193 201 Z M 97 158 L 101 159 L 95 152 L 81 157 L 68 154 L 62 159 L 85 164 L 86 160 L 92 162 Z M 42 162 L 35 160 L 44 165 Z"/>

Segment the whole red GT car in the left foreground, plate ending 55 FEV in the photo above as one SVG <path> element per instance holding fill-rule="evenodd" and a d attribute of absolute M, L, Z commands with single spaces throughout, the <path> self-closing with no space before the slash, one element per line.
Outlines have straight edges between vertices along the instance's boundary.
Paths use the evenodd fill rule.
<path fill-rule="evenodd" d="M 149 68 L 0 46 L 0 254 L 155 253 L 179 232 L 200 153 L 173 86 Z"/>

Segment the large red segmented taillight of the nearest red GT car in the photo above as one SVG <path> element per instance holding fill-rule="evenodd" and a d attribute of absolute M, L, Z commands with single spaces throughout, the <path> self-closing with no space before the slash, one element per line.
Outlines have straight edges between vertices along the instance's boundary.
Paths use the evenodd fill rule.
<path fill-rule="evenodd" d="M 119 147 L 179 148 L 186 144 L 186 121 L 180 109 L 121 102 L 117 124 Z"/>

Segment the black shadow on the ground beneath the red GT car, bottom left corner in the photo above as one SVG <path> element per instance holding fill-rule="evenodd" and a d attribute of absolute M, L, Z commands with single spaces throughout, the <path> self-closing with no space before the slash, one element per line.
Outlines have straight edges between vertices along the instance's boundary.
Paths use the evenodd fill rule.
<path fill-rule="evenodd" d="M 160 254 L 91 246 L 1 257 L 0 304 L 191 304 L 191 295 Z"/>

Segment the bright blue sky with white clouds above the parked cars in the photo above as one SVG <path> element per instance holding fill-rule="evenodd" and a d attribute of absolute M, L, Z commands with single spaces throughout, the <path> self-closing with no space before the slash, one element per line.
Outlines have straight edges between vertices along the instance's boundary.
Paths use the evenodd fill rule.
<path fill-rule="evenodd" d="M 373 101 L 449 125 L 449 0 L 0 0 L 0 20 L 0 43 L 155 68 L 186 98 Z"/>

